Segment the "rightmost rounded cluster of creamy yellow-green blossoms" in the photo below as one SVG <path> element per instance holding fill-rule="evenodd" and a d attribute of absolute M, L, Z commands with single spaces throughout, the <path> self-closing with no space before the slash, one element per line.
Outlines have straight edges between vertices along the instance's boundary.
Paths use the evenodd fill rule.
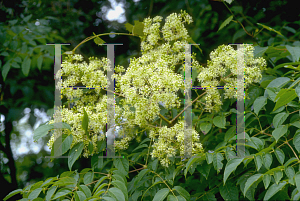
<path fill-rule="evenodd" d="M 244 50 L 244 51 L 243 51 Z M 243 52 L 241 52 L 243 51 Z M 242 59 L 241 57 L 244 57 Z M 235 98 L 242 100 L 244 94 L 237 94 L 236 87 L 242 87 L 238 82 L 237 75 L 243 75 L 240 72 L 242 68 L 238 68 L 240 65 L 244 65 L 244 78 L 247 88 L 251 83 L 257 83 L 262 78 L 262 70 L 266 69 L 266 61 L 262 57 L 254 59 L 253 46 L 242 44 L 241 48 L 234 50 L 230 45 L 221 45 L 215 51 L 210 53 L 211 61 L 207 62 L 207 67 L 201 66 L 198 80 L 201 82 L 202 87 L 217 87 L 220 80 L 225 82 L 224 98 Z M 243 63 L 239 63 L 244 61 Z M 220 80 L 219 80 L 220 79 Z M 207 88 L 207 94 L 204 99 L 206 101 L 205 109 L 209 112 L 212 110 L 219 111 L 222 105 L 221 96 L 217 88 Z M 214 103 L 214 105 L 213 105 Z"/>

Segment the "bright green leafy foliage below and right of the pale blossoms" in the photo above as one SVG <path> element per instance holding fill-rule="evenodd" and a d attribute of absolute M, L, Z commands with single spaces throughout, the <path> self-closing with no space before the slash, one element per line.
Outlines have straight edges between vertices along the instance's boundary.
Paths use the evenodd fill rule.
<path fill-rule="evenodd" d="M 232 1 L 226 2 L 230 4 Z M 232 10 L 236 13 L 243 12 L 242 8 L 237 7 Z M 233 18 L 236 16 L 231 15 L 226 19 L 219 31 L 234 26 L 229 24 Z M 261 81 L 252 84 L 246 92 L 249 99 L 245 101 L 244 157 L 235 158 L 238 137 L 235 133 L 237 111 L 233 103 L 236 100 L 227 101 L 222 96 L 224 104 L 219 112 L 204 113 L 203 107 L 198 111 L 193 110 L 193 126 L 204 134 L 200 139 L 204 153 L 197 153 L 189 159 L 170 157 L 172 163 L 165 167 L 149 154 L 155 140 L 141 135 L 137 142 L 131 142 L 128 150 L 117 152 L 123 157 L 104 159 L 105 162 L 103 158 L 98 158 L 103 156 L 105 148 L 105 143 L 100 142 L 98 153 L 92 156 L 91 168 L 77 173 L 71 169 L 82 155 L 84 142 L 76 142 L 71 148 L 73 135 L 67 135 L 63 136 L 61 147 L 63 154 L 69 151 L 70 171 L 60 177 L 13 191 L 6 199 L 21 193 L 24 198 L 40 197 L 45 200 L 298 200 L 300 42 L 288 42 L 284 30 L 279 27 L 276 30 L 282 30 L 280 32 L 261 23 L 253 23 L 255 29 L 257 27 L 254 24 L 266 29 L 263 33 L 267 36 L 259 35 L 259 38 L 268 38 L 268 45 L 261 47 L 256 44 L 254 55 L 263 56 L 268 61 L 268 68 L 262 73 Z M 144 36 L 142 22 L 135 21 L 135 25 L 127 23 L 125 27 L 133 35 Z M 263 29 L 256 31 L 255 35 L 258 37 Z M 239 34 L 246 34 L 247 30 L 249 31 L 241 29 Z M 285 30 L 293 32 L 292 28 L 286 27 Z M 270 37 L 269 32 L 276 33 L 276 36 Z M 237 33 L 235 39 L 238 39 Z M 95 43 L 103 42 L 99 41 L 102 39 L 97 39 Z M 275 39 L 281 40 L 280 43 L 275 42 Z M 7 68 L 5 66 L 4 74 Z M 24 69 L 26 70 L 25 66 Z M 200 98 L 199 101 L 204 102 Z M 176 118 L 180 111 L 177 109 L 161 107 L 160 116 L 153 125 L 161 126 L 163 121 L 168 123 L 166 119 Z M 182 105 L 180 109 L 184 109 Z M 85 110 L 83 113 L 81 126 L 89 137 L 91 116 Z M 174 124 L 166 125 L 169 128 Z M 35 131 L 34 139 L 45 136 L 51 128 L 54 127 L 41 126 Z M 136 129 L 137 136 L 143 132 L 142 129 Z M 92 153 L 93 144 L 87 146 Z"/>

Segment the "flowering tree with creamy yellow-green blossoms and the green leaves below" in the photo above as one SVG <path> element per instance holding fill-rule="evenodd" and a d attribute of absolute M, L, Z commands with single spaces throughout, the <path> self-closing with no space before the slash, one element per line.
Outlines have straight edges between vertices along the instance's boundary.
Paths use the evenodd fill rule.
<path fill-rule="evenodd" d="M 255 149 L 256 152 L 251 150 L 250 153 L 246 149 L 247 157 L 231 158 L 235 155 L 236 125 L 226 122 L 226 116 L 237 113 L 237 111 L 233 109 L 227 111 L 229 110 L 228 105 L 224 106 L 223 103 L 226 102 L 225 99 L 243 100 L 244 98 L 244 94 L 238 94 L 234 89 L 237 75 L 241 74 L 237 67 L 238 54 L 244 55 L 245 97 L 248 97 L 249 94 L 251 97 L 253 91 L 248 91 L 249 86 L 259 83 L 263 78 L 263 71 L 267 70 L 266 60 L 262 57 L 254 58 L 254 48 L 251 45 L 241 45 L 242 48 L 238 50 L 229 45 L 221 45 L 211 52 L 210 61 L 207 62 L 206 67 L 197 62 L 195 53 L 191 54 L 192 68 L 197 71 L 196 79 L 201 83 L 203 93 L 197 94 L 197 98 L 192 101 L 196 108 L 193 117 L 192 157 L 188 160 L 184 158 L 183 112 L 185 107 L 182 98 L 180 99 L 184 95 L 185 89 L 185 78 L 182 75 L 186 65 L 184 45 L 189 42 L 193 43 L 184 24 L 192 23 L 192 18 L 185 11 L 181 11 L 179 14 L 173 13 L 168 16 L 162 28 L 161 22 L 162 17 L 157 16 L 153 19 L 146 18 L 143 22 L 136 21 L 134 26 L 126 25 L 127 30 L 132 33 L 131 35 L 140 37 L 142 56 L 132 58 L 126 70 L 120 65 L 115 67 L 115 94 L 117 96 L 115 123 L 121 128 L 121 131 L 119 131 L 118 141 L 115 141 L 114 145 L 121 158 L 106 158 L 104 161 L 101 157 L 106 147 L 107 103 L 113 101 L 108 99 L 103 91 L 108 89 L 101 88 L 108 85 L 109 60 L 90 57 L 89 63 L 82 62 L 83 57 L 74 54 L 76 47 L 63 61 L 62 69 L 56 74 L 57 79 L 62 78 L 56 87 L 61 89 L 63 97 L 69 103 L 72 101 L 74 103 L 72 108 L 65 105 L 60 108 L 62 122 L 65 126 L 61 148 L 63 154 L 68 152 L 70 171 L 64 172 L 59 177 L 48 178 L 46 181 L 30 185 L 25 189 L 13 191 L 7 198 L 16 193 L 22 193 L 25 200 L 127 201 L 164 200 L 165 198 L 168 200 L 215 200 L 215 194 L 220 193 L 223 199 L 238 200 L 242 194 L 240 195 L 240 191 L 236 187 L 237 183 L 240 185 L 243 196 L 251 200 L 258 184 L 255 182 L 263 179 L 265 189 L 267 189 L 271 182 L 270 175 L 274 175 L 275 180 L 264 194 L 265 199 L 270 199 L 282 190 L 287 181 L 295 185 L 293 180 L 289 180 L 295 176 L 294 169 L 288 165 L 299 161 L 296 154 L 297 158 L 291 158 L 284 166 L 270 170 L 272 155 L 269 152 L 279 138 L 288 131 L 287 126 L 281 125 L 288 116 L 286 113 L 275 115 L 273 119 L 275 130 L 272 135 L 265 132 L 271 126 L 265 129 L 260 126 L 262 130 L 260 133 L 266 133 L 272 138 L 270 146 L 265 148 L 264 140 L 255 136 L 250 138 L 246 133 L 247 147 Z M 104 41 L 99 38 L 100 35 L 89 39 L 94 38 L 97 44 L 102 44 Z M 287 81 L 281 80 L 281 83 L 283 82 Z M 295 98 L 296 93 L 299 96 L 299 86 L 291 90 L 280 92 L 278 90 L 279 93 L 276 95 L 276 89 L 271 88 L 272 83 L 276 87 L 274 81 L 269 82 L 270 88 L 267 88 L 266 91 L 273 102 L 278 98 L 281 100 L 275 101 L 274 108 L 280 112 L 282 111 L 280 108 L 284 108 L 284 105 L 289 103 L 283 101 L 284 97 L 291 95 Z M 298 83 L 299 79 L 291 86 Z M 83 85 L 95 89 L 74 90 L 68 88 L 69 86 Z M 216 88 L 211 86 L 224 86 L 224 91 L 219 93 Z M 266 99 L 265 96 L 262 96 L 255 100 L 253 104 L 255 113 L 247 110 L 247 119 L 251 115 L 256 114 L 255 116 L 257 116 L 259 111 L 263 110 Z M 250 121 L 253 121 L 251 118 Z M 297 120 L 297 118 L 294 117 L 293 120 Z M 54 122 L 53 119 L 35 131 L 35 139 L 48 134 L 50 130 L 53 132 L 48 143 L 52 150 L 56 140 L 61 137 L 53 127 Z M 299 121 L 292 125 L 299 128 Z M 208 152 L 204 142 L 208 136 L 212 136 L 220 128 L 227 129 L 226 133 L 220 132 L 220 134 L 225 134 L 224 140 L 214 147 L 214 151 Z M 254 129 L 258 130 L 257 125 L 253 126 L 250 133 Z M 199 133 L 201 131 L 204 134 L 209 133 L 201 140 L 203 143 L 200 141 Z M 298 131 L 294 137 L 294 144 L 299 151 Z M 143 135 L 144 133 L 145 135 Z M 124 136 L 123 138 L 121 134 Z M 129 146 L 135 139 L 138 146 Z M 288 141 L 285 143 L 288 144 Z M 278 147 L 274 153 L 283 165 L 283 151 Z M 55 153 L 52 152 L 52 156 L 54 155 Z M 72 166 L 80 155 L 91 157 L 91 168 L 80 172 L 72 171 Z M 228 161 L 224 169 L 224 176 L 219 175 L 223 170 L 223 155 Z M 180 156 L 180 158 L 176 158 L 176 156 Z M 237 169 L 241 162 L 247 165 L 253 159 L 257 171 L 263 172 L 250 176 L 250 170 L 244 173 L 243 168 Z M 262 164 L 264 164 L 264 169 Z M 142 167 L 136 168 L 137 165 Z M 129 166 L 132 166 L 134 170 L 129 171 Z M 211 167 L 214 168 L 211 170 Z M 200 183 L 197 183 L 199 179 L 196 180 L 192 176 L 195 169 L 201 175 Z M 241 175 L 240 179 L 233 182 L 234 176 L 232 176 L 230 177 L 231 181 L 226 183 L 236 169 L 236 175 Z M 283 169 L 288 179 L 280 182 L 283 177 Z M 135 174 L 137 171 L 139 173 Z M 189 177 L 187 177 L 188 172 L 191 174 Z M 182 174 L 185 176 L 186 184 L 182 184 L 184 181 L 181 178 Z M 99 175 L 103 176 L 99 177 Z M 212 176 L 217 177 L 217 181 L 221 179 L 221 183 L 226 183 L 226 185 L 216 185 L 215 181 L 210 181 L 209 187 L 214 186 L 213 189 L 215 189 L 220 186 L 220 189 L 205 192 L 204 189 L 208 187 L 208 184 L 204 184 L 204 179 Z M 295 181 L 299 188 L 298 176 L 295 176 Z M 205 188 L 202 189 L 201 185 L 195 187 L 195 184 L 198 186 L 203 184 Z M 292 196 L 299 197 L 299 194 L 296 189 Z"/>

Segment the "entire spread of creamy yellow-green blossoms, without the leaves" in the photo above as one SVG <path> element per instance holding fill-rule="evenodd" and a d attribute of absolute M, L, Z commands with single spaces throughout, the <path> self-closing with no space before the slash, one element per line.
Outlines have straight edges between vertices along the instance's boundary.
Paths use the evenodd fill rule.
<path fill-rule="evenodd" d="M 160 114 L 160 103 L 166 109 L 180 108 L 180 101 L 177 96 L 179 90 L 184 90 L 184 77 L 177 72 L 178 68 L 184 69 L 185 64 L 185 44 L 189 38 L 184 23 L 191 23 L 192 18 L 185 11 L 180 14 L 171 14 L 166 18 L 165 24 L 160 29 L 161 16 L 153 19 L 144 20 L 144 36 L 141 37 L 142 56 L 131 58 L 129 67 L 126 72 L 122 66 L 115 67 L 116 92 L 125 97 L 115 106 L 115 124 L 122 127 L 123 139 L 115 141 L 117 150 L 127 149 L 128 142 L 137 135 L 132 132 L 134 126 L 141 129 L 149 130 L 149 137 L 154 141 L 152 157 L 157 157 L 160 163 L 168 167 L 170 164 L 169 157 L 173 157 L 179 152 L 180 156 L 184 155 L 184 122 L 181 118 L 174 126 L 167 128 L 149 126 L 153 120 Z M 160 35 L 162 33 L 162 36 Z M 253 59 L 251 57 L 251 47 L 246 47 L 246 85 L 256 82 L 260 79 L 260 70 L 265 67 L 265 61 L 261 58 Z M 192 67 L 200 72 L 198 80 L 202 86 L 217 86 L 216 78 L 232 72 L 232 76 L 223 78 L 226 86 L 233 85 L 237 75 L 237 53 L 229 46 L 220 46 L 216 51 L 211 53 L 211 60 L 208 62 L 208 68 L 203 68 L 196 60 L 193 53 Z M 62 64 L 62 70 L 57 73 L 57 78 L 64 78 L 59 82 L 61 86 L 106 86 L 108 60 L 91 57 L 89 64 L 82 61 L 81 55 L 68 56 Z M 175 70 L 177 72 L 175 72 Z M 121 72 L 125 74 L 121 75 Z M 102 95 L 101 89 L 91 89 L 84 91 L 82 89 L 62 88 L 62 95 L 67 99 L 76 99 L 75 106 L 72 109 L 62 108 L 62 121 L 67 122 L 72 127 L 73 143 L 84 142 L 85 157 L 93 154 L 97 150 L 96 141 L 104 140 L 107 121 L 107 96 Z M 234 93 L 227 90 L 226 96 L 232 97 Z M 221 98 L 216 89 L 208 89 L 205 97 L 208 110 L 212 109 L 212 104 L 221 105 Z M 89 117 L 89 137 L 85 136 L 82 129 L 81 121 L 83 109 Z M 121 118 L 122 117 L 122 118 Z M 122 122 L 126 119 L 126 122 Z M 53 123 L 52 120 L 50 123 Z M 48 146 L 52 147 L 56 134 L 51 137 Z M 98 137 L 97 137 L 98 136 Z M 89 153 L 89 141 L 94 144 L 94 151 Z M 199 134 L 192 131 L 192 153 L 203 152 L 203 147 L 199 143 Z"/>

